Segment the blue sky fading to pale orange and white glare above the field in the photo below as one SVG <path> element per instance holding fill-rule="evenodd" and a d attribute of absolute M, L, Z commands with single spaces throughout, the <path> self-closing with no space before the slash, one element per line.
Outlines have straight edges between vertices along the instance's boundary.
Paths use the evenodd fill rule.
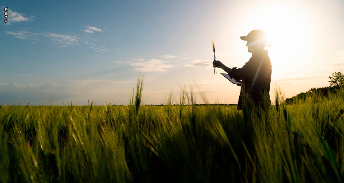
<path fill-rule="evenodd" d="M 0 105 L 126 105 L 144 75 L 143 104 L 194 87 L 237 104 L 240 87 L 212 62 L 242 67 L 239 36 L 265 31 L 275 88 L 290 98 L 344 72 L 344 1 L 1 1 Z M 200 93 L 197 93 L 200 96 Z"/>

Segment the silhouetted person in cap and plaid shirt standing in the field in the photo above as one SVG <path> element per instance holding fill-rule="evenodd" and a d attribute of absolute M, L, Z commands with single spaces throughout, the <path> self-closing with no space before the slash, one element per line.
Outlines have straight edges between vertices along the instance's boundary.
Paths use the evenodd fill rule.
<path fill-rule="evenodd" d="M 238 101 L 238 110 L 243 110 L 243 92 L 253 99 L 254 104 L 264 108 L 264 96 L 266 103 L 270 101 L 271 62 L 268 50 L 265 50 L 268 42 L 265 32 L 253 30 L 247 36 L 241 36 L 241 40 L 247 41 L 248 52 L 252 57 L 246 64 L 237 69 L 226 67 L 221 61 L 213 61 L 213 67 L 219 67 L 226 71 L 231 78 L 238 82 L 242 80 L 244 89 L 241 89 Z M 270 46 L 270 45 L 269 45 Z M 238 85 L 240 86 L 240 85 Z M 244 91 L 243 91 L 244 90 Z M 270 104 L 269 103 L 269 104 Z"/>

